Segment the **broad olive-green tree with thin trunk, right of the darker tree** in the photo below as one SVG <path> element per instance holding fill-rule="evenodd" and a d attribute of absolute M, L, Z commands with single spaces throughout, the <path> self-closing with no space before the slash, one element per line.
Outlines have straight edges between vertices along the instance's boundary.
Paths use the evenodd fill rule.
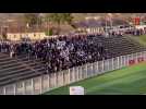
<path fill-rule="evenodd" d="M 47 14 L 47 21 L 57 23 L 58 25 L 58 34 L 60 33 L 60 25 L 68 23 L 69 25 L 72 24 L 73 16 L 71 13 L 49 13 Z"/>

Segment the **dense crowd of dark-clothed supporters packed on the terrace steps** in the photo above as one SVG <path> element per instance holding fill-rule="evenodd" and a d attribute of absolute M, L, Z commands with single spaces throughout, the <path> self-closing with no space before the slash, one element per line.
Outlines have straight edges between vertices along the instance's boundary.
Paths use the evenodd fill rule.
<path fill-rule="evenodd" d="M 101 43 L 94 43 L 95 35 L 63 36 L 40 41 L 1 41 L 0 51 L 10 57 L 26 55 L 29 59 L 41 59 L 47 72 L 57 72 L 87 62 L 107 58 Z"/>

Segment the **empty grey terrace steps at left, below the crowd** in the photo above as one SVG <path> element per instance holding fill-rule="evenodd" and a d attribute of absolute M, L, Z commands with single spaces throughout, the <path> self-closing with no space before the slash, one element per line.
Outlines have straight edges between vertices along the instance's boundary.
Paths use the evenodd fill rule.
<path fill-rule="evenodd" d="M 2 60 L 0 61 L 0 86 L 46 73 L 38 60 L 36 60 L 36 64 L 34 60 L 27 60 L 27 58 L 22 58 L 22 61 L 16 58 L 11 59 L 5 53 L 0 53 L 0 59 Z"/>

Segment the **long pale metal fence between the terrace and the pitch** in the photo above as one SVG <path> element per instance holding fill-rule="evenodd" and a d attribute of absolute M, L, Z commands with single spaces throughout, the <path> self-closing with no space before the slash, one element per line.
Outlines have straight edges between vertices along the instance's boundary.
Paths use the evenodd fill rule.
<path fill-rule="evenodd" d="M 39 95 L 84 78 L 129 66 L 130 60 L 135 60 L 135 63 L 138 63 L 137 60 L 142 57 L 144 60 L 146 60 L 146 51 L 120 56 L 94 63 L 87 63 L 57 73 L 45 74 L 38 77 L 0 87 L 0 95 Z"/>

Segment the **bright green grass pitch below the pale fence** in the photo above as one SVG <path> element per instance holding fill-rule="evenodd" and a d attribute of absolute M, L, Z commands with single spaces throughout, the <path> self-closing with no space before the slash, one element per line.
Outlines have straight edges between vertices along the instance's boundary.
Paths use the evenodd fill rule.
<path fill-rule="evenodd" d="M 76 82 L 44 95 L 69 95 L 70 86 L 83 86 L 85 95 L 146 94 L 146 62 Z"/>

